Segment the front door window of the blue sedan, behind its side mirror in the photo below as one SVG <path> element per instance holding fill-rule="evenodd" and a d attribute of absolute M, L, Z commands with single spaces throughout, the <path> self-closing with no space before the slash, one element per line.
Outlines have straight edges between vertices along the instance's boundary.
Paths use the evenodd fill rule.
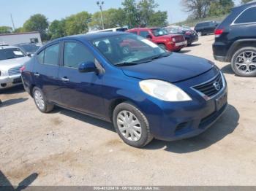
<path fill-rule="evenodd" d="M 64 66 L 78 69 L 80 63 L 94 62 L 94 56 L 83 44 L 76 42 L 65 42 L 64 44 Z"/>

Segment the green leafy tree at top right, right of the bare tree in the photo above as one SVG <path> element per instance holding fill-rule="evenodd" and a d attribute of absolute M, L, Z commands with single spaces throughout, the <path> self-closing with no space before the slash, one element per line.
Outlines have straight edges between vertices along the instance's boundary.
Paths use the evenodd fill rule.
<path fill-rule="evenodd" d="M 235 4 L 232 0 L 212 1 L 208 15 L 209 16 L 226 15 L 226 14 L 230 13 L 230 11 L 231 11 L 231 9 L 233 9 L 234 5 Z"/>

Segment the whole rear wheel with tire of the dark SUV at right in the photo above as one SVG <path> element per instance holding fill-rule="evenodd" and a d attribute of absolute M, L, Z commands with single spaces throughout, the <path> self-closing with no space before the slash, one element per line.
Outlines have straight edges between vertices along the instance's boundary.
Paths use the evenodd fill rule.
<path fill-rule="evenodd" d="M 256 77 L 256 47 L 237 50 L 231 59 L 231 67 L 240 77 Z"/>

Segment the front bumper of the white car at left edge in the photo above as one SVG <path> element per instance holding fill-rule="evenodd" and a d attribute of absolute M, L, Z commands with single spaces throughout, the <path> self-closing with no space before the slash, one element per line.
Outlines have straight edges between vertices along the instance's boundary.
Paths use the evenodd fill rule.
<path fill-rule="evenodd" d="M 13 75 L 13 76 L 6 76 L 6 77 L 0 77 L 0 89 L 5 89 L 8 87 L 13 87 L 16 85 L 21 85 L 21 75 Z"/>

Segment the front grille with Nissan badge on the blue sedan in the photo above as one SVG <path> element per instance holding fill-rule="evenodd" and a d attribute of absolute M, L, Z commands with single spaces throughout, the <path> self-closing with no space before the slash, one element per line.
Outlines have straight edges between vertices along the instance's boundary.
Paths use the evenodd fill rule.
<path fill-rule="evenodd" d="M 214 77 L 214 79 L 211 79 L 210 81 L 201 85 L 196 85 L 193 88 L 211 98 L 212 96 L 219 93 L 219 91 L 222 90 L 223 86 L 224 82 L 222 79 L 222 74 L 219 72 L 219 74 Z"/>

